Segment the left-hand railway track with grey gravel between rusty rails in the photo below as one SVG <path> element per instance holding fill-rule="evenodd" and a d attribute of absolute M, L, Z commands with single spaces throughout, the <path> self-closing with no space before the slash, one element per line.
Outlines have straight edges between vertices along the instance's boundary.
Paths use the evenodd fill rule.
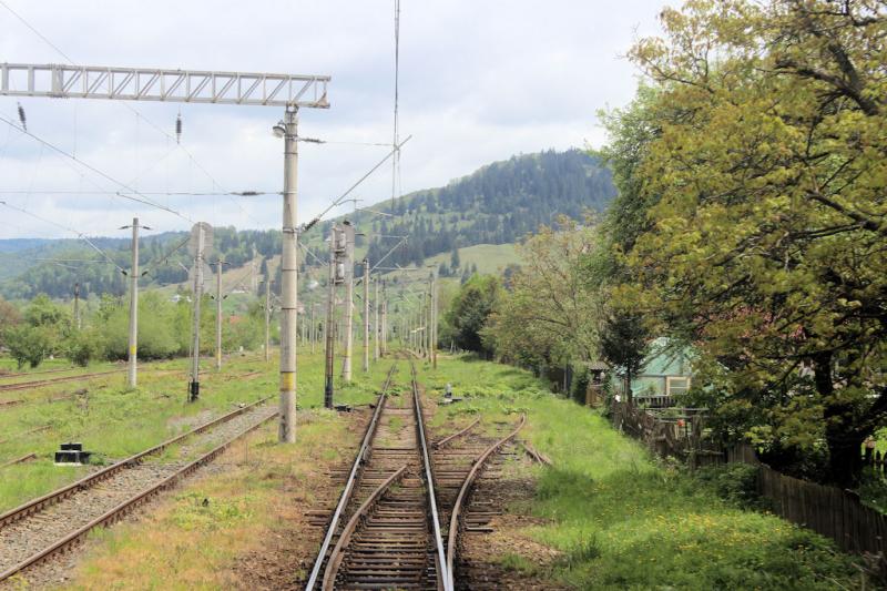
<path fill-rule="evenodd" d="M 233 441 L 276 416 L 276 409 L 264 406 L 266 400 L 228 412 L 0 516 L 0 581 L 69 548 L 90 530 L 113 523 L 214 460 Z M 144 461 L 174 445 L 181 445 L 181 459 Z M 212 449 L 201 454 L 207 447 Z M 201 455 L 190 459 L 194 454 Z"/>

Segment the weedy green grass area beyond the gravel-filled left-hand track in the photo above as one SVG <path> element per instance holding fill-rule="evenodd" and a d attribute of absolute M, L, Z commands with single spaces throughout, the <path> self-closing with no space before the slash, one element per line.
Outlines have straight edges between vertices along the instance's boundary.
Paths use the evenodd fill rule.
<path fill-rule="evenodd" d="M 119 367 L 123 366 L 100 364 L 74 369 L 71 374 L 49 374 L 45 377 Z M 96 461 L 111 462 L 233 410 L 237 404 L 251 403 L 277 391 L 276 356 L 267 365 L 255 354 L 233 357 L 224 364 L 221 374 L 210 369 L 213 367 L 211 360 L 205 360 L 203 367 L 206 370 L 202 377 L 201 398 L 195 404 L 185 401 L 188 378 L 184 359 L 143 365 L 135 390 L 125 387 L 125 373 L 120 373 L 88 383 L 65 381 L 33 390 L 0 393 L 0 400 L 24 400 L 24 404 L 16 406 L 0 406 L 0 463 L 30 452 L 38 455 L 35 460 L 0 469 L 0 512 L 86 473 L 89 468 L 85 467 L 53 465 L 52 454 L 61 441 L 82 441 L 84 449 L 95 452 Z M 323 401 L 319 353 L 302 356 L 299 368 L 299 407 L 319 406 Z M 257 370 L 262 374 L 238 378 Z M 374 379 L 377 374 L 374 373 Z M 42 377 L 32 376 L 31 379 Z M 16 379 L 19 378 L 0 379 L 0 383 Z M 381 379 L 377 381 L 380 384 Z M 369 401 L 371 389 L 360 388 L 360 384 L 340 388 L 337 401 Z M 84 387 L 89 389 L 85 395 L 49 401 Z M 45 425 L 50 426 L 47 430 L 27 432 Z"/>

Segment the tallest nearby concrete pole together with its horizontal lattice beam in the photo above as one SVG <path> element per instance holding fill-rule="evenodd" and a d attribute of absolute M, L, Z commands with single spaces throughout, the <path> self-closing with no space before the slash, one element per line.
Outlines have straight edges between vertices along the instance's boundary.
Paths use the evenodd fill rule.
<path fill-rule="evenodd" d="M 20 81 L 26 80 L 24 84 Z M 64 64 L 0 64 L 0 95 L 60 99 L 191 102 L 284 106 L 275 133 L 285 137 L 283 216 L 283 332 L 281 335 L 279 440 L 295 440 L 296 344 L 296 112 L 327 109 L 328 75 L 106 68 Z M 132 345 L 132 343 L 131 343 Z M 134 363 L 134 354 L 131 354 Z M 134 374 L 131 376 L 134 385 Z"/>

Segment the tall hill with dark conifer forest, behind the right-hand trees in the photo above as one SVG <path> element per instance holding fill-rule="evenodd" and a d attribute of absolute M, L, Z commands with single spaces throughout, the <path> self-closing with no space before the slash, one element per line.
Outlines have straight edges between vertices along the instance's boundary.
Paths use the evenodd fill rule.
<path fill-rule="evenodd" d="M 381 211 L 392 218 L 359 214 L 373 234 L 409 235 L 388 261 L 421 264 L 428 256 L 475 244 L 508 244 L 563 214 L 580 220 L 603 211 L 615 195 L 609 169 L 585 152 L 541 152 L 483 166 L 440 188 L 411 193 Z M 374 207 L 376 208 L 376 207 Z M 391 245 L 374 237 L 368 257 L 378 261 Z"/>

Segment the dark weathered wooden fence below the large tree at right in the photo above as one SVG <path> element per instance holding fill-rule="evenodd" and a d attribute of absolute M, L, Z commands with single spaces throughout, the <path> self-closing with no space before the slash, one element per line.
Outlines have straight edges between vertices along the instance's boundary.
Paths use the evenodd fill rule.
<path fill-rule="evenodd" d="M 832 538 L 847 552 L 878 557 L 878 568 L 887 572 L 887 518 L 863 505 L 849 490 L 826 487 L 778 472 L 761 463 L 754 448 L 737 444 L 726 449 L 706 449 L 702 429 L 704 416 L 691 417 L 691 430 L 682 434 L 674 424 L 651 412 L 614 403 L 616 428 L 644 441 L 661 456 L 684 459 L 691 468 L 717 463 L 748 463 L 757 467 L 757 492 L 773 503 L 773 511 L 798 526 Z M 871 455 L 866 461 L 884 470 L 885 458 Z"/>

